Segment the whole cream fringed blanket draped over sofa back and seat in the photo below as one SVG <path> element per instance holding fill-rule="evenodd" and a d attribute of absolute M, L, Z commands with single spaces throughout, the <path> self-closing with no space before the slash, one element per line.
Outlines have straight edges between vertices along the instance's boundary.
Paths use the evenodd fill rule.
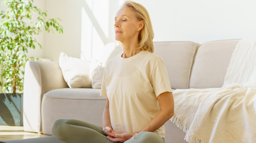
<path fill-rule="evenodd" d="M 246 40 L 248 41 L 243 39 L 238 43 L 229 67 L 235 64 L 246 64 L 243 62 L 245 60 L 248 62 L 247 57 L 251 58 L 250 62 L 256 60 L 253 54 L 256 51 L 254 43 L 254 49 L 243 56 L 244 59 L 232 62 L 242 56 L 241 54 L 235 56 L 235 52 L 240 51 L 238 48 L 245 51 L 251 48 L 242 44 L 246 43 Z M 253 55 L 250 55 L 251 53 Z M 254 143 L 256 141 L 256 88 L 240 86 L 250 79 L 255 70 L 255 63 L 247 64 L 249 67 L 246 67 L 246 70 L 249 68 L 250 71 L 240 73 L 239 70 L 245 69 L 236 69 L 237 74 L 228 68 L 226 84 L 221 88 L 176 89 L 173 92 L 175 115 L 171 121 L 186 133 L 187 142 Z M 243 67 L 243 65 L 239 66 Z M 243 73 L 246 73 L 246 80 L 243 78 Z M 233 78 L 236 83 L 230 84 Z"/>

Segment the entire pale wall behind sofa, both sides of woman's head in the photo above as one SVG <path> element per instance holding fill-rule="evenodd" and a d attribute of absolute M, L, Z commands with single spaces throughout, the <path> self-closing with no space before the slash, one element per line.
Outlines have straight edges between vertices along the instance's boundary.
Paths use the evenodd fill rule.
<path fill-rule="evenodd" d="M 0 0 L 2 1 L 2 0 Z M 134 0 L 149 12 L 154 41 L 194 41 L 256 37 L 255 0 Z M 59 53 L 98 59 L 114 39 L 114 17 L 124 0 L 34 0 L 48 18 L 60 18 L 63 35 L 46 33 L 33 54 L 58 61 Z M 2 7 L 1 7 L 2 9 Z M 32 52 L 31 52 L 32 53 Z"/>

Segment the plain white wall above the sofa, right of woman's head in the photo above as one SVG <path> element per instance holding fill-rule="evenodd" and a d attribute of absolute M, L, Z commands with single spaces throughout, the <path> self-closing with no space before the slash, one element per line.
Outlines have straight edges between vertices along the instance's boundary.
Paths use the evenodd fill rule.
<path fill-rule="evenodd" d="M 255 0 L 135 0 L 148 9 L 154 41 L 255 37 Z"/>

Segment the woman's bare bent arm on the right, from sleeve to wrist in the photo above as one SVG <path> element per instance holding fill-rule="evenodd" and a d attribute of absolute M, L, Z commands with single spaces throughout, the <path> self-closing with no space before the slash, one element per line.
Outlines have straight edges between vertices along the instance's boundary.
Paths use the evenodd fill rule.
<path fill-rule="evenodd" d="M 160 112 L 140 132 L 154 132 L 174 115 L 174 100 L 172 92 L 161 93 L 157 97 L 157 100 L 160 105 Z"/>

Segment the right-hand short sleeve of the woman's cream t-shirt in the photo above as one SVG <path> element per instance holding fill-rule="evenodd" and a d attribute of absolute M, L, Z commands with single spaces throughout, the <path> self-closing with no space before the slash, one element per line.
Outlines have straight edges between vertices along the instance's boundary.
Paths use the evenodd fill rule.
<path fill-rule="evenodd" d="M 163 60 L 156 63 L 151 75 L 151 84 L 158 97 L 163 92 L 172 92 L 170 81 Z"/>

